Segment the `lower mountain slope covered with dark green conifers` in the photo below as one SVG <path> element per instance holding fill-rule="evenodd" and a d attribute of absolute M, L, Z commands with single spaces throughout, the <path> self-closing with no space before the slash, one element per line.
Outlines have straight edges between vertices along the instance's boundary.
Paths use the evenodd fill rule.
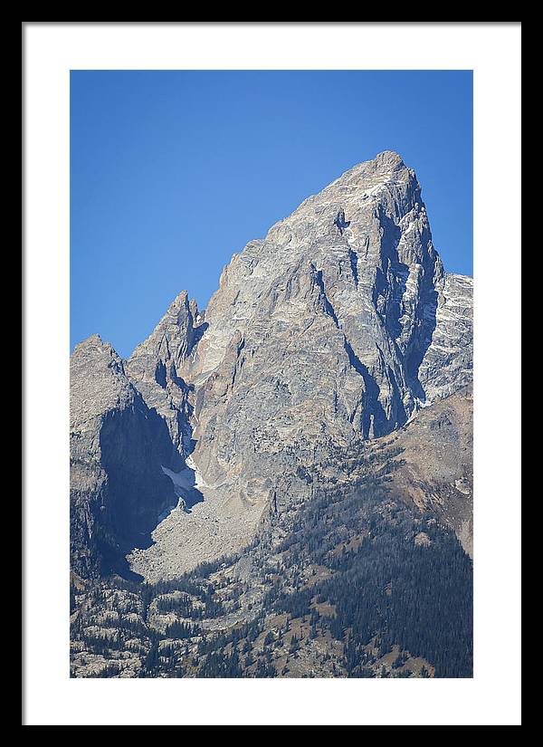
<path fill-rule="evenodd" d="M 457 410 L 469 429 L 470 408 L 443 400 L 394 444 L 322 455 L 312 497 L 271 505 L 240 554 L 151 584 L 74 588 L 72 675 L 471 676 L 472 561 L 443 504 L 413 499 L 417 434 Z M 453 458 L 430 457 L 434 486 L 450 483 Z"/>

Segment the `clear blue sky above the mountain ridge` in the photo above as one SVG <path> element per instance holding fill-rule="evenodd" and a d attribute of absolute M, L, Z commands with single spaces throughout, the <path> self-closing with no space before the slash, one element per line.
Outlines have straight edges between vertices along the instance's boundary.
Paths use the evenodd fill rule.
<path fill-rule="evenodd" d="M 448 272 L 472 274 L 472 72 L 72 71 L 71 347 L 122 356 L 183 289 L 395 150 Z"/>

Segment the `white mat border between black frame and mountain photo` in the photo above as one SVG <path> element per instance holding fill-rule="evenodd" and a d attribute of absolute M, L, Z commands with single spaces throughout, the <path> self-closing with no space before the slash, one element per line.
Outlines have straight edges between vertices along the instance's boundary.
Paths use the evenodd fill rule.
<path fill-rule="evenodd" d="M 25 723 L 519 723 L 519 25 L 29 24 L 25 44 Z M 475 677 L 70 680 L 70 69 L 473 69 Z"/>

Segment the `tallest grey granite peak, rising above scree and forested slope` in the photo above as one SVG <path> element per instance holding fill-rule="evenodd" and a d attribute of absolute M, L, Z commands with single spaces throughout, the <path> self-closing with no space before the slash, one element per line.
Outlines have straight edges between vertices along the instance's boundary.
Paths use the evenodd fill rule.
<path fill-rule="evenodd" d="M 414 172 L 390 152 L 234 255 L 190 368 L 205 472 L 222 474 L 225 454 L 231 470 L 240 447 L 243 460 L 243 440 L 265 450 L 403 425 L 424 399 L 418 369 L 442 280 Z"/>

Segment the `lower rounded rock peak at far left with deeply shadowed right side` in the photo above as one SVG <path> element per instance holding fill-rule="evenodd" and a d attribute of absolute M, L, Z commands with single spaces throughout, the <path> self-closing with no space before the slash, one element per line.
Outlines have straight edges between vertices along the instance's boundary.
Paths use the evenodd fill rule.
<path fill-rule="evenodd" d="M 178 468 L 181 459 L 164 420 L 98 335 L 75 348 L 70 375 L 71 567 L 83 577 L 124 572 L 126 552 L 148 545 L 160 514 L 176 504 L 161 464 Z"/>

